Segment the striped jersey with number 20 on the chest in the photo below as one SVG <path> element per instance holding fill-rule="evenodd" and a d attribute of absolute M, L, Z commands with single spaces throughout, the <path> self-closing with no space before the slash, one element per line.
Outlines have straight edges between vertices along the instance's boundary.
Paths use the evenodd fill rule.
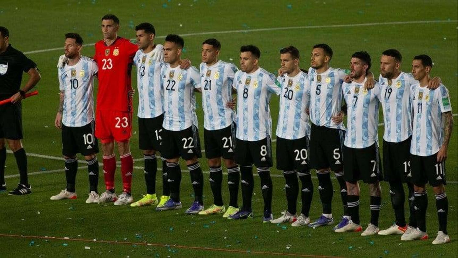
<path fill-rule="evenodd" d="M 310 102 L 309 76 L 300 71 L 296 76 L 287 74 L 277 78 L 281 84 L 277 136 L 295 140 L 308 135 L 309 116 L 305 110 Z"/>

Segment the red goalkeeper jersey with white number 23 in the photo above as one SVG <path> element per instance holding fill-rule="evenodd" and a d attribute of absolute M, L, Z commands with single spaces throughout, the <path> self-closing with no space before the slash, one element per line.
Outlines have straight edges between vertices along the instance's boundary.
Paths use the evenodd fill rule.
<path fill-rule="evenodd" d="M 129 39 L 118 37 L 107 46 L 103 40 L 95 44 L 94 60 L 98 65 L 98 110 L 132 111 L 131 86 L 133 57 L 138 50 Z"/>

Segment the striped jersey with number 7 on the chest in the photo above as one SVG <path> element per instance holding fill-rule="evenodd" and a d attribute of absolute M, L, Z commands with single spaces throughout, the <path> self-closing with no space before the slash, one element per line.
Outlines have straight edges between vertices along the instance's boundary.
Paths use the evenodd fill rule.
<path fill-rule="evenodd" d="M 347 132 L 345 146 L 349 148 L 367 148 L 378 143 L 378 105 L 380 85 L 367 90 L 364 82 L 344 82 L 342 90 L 347 103 Z"/>

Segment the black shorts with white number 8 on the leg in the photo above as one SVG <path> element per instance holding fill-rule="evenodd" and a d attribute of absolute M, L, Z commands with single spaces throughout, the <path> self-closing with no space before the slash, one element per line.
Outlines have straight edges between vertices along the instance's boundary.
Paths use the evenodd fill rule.
<path fill-rule="evenodd" d="M 272 143 L 270 136 L 259 141 L 235 139 L 235 162 L 241 166 L 272 167 Z"/>

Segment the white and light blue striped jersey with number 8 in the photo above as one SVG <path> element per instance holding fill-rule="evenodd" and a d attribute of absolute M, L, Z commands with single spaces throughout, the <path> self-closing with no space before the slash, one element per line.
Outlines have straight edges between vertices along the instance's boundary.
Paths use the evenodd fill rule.
<path fill-rule="evenodd" d="M 269 101 L 280 94 L 280 83 L 272 73 L 258 68 L 247 74 L 235 73 L 232 87 L 237 90 L 237 130 L 235 137 L 244 141 L 259 141 L 272 135 Z"/>

